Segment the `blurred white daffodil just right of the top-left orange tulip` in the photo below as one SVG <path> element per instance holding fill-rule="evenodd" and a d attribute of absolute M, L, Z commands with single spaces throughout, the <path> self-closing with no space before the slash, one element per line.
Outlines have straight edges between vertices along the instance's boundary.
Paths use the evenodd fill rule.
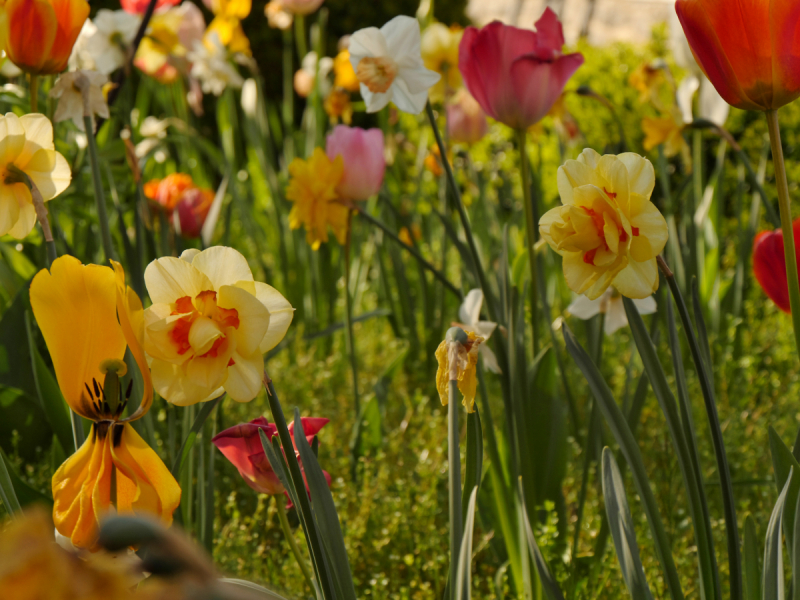
<path fill-rule="evenodd" d="M 110 75 L 122 67 L 141 20 L 124 10 L 101 8 L 94 21 L 84 23 L 72 50 L 70 69 L 96 69 Z"/>

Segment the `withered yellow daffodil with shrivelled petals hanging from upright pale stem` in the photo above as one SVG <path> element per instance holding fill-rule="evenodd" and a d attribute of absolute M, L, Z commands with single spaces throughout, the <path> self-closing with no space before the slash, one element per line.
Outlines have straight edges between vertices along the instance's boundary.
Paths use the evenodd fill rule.
<path fill-rule="evenodd" d="M 476 365 L 478 364 L 478 349 L 484 339 L 476 335 L 474 331 L 465 332 L 460 328 L 462 334 L 466 335 L 466 341 L 445 340 L 436 349 L 436 362 L 439 367 L 436 370 L 436 389 L 439 391 L 439 399 L 442 406 L 448 404 L 448 384 L 453 380 L 453 376 L 458 381 L 458 389 L 464 394 L 463 404 L 467 412 L 475 411 L 475 394 L 478 389 L 478 378 Z M 449 332 L 448 332 L 448 337 Z"/>

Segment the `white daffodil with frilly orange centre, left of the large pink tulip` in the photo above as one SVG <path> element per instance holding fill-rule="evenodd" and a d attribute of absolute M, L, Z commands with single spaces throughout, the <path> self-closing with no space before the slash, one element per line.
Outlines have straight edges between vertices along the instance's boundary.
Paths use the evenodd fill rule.
<path fill-rule="evenodd" d="M 422 64 L 420 38 L 419 22 L 405 16 L 350 36 L 350 62 L 367 112 L 378 112 L 390 101 L 415 115 L 425 108 L 428 90 L 440 76 Z"/>

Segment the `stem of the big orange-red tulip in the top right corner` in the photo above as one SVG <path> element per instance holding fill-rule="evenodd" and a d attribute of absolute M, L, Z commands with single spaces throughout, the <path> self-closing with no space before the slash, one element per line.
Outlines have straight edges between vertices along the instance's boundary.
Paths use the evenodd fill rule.
<path fill-rule="evenodd" d="M 783 231 L 783 254 L 786 257 L 786 278 L 789 283 L 789 305 L 792 309 L 792 325 L 797 350 L 800 352 L 800 285 L 797 280 L 797 256 L 792 229 L 792 207 L 789 199 L 789 185 L 786 182 L 786 165 L 783 162 L 781 130 L 778 127 L 778 111 L 768 110 L 767 125 L 769 141 L 772 144 L 772 164 L 775 167 L 775 185 L 778 188 L 778 207 L 781 213 Z"/>

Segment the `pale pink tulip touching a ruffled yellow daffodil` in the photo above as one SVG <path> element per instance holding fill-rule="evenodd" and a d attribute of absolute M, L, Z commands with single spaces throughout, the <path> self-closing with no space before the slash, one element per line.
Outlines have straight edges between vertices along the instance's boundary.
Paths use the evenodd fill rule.
<path fill-rule="evenodd" d="M 344 175 L 336 188 L 347 200 L 366 200 L 377 194 L 383 183 L 386 159 L 383 157 L 383 132 L 337 125 L 325 146 L 331 160 L 341 156 Z"/>

